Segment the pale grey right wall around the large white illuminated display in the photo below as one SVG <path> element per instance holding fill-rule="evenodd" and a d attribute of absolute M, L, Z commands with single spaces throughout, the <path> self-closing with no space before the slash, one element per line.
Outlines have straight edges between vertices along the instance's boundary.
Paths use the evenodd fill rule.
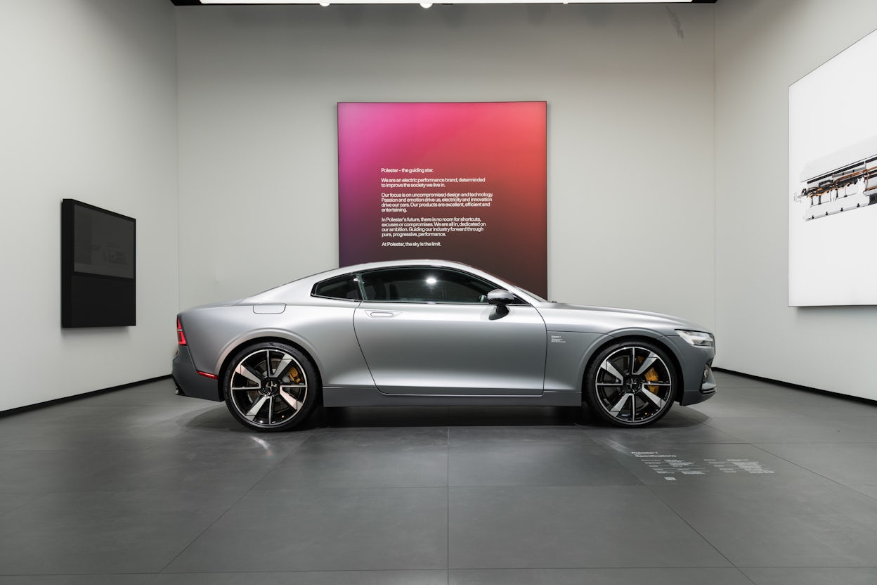
<path fill-rule="evenodd" d="M 788 86 L 875 28 L 873 0 L 716 4 L 721 365 L 872 400 L 877 307 L 788 307 Z"/>

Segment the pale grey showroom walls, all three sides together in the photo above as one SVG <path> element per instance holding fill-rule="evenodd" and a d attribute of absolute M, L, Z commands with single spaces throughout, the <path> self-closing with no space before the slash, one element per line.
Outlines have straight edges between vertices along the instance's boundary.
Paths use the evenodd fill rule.
<path fill-rule="evenodd" d="M 335 103 L 358 100 L 546 100 L 551 296 L 715 325 L 717 365 L 877 398 L 877 309 L 786 289 L 788 85 L 877 28 L 872 0 L 3 16 L 0 410 L 165 375 L 178 308 L 334 266 Z M 61 331 L 64 197 L 138 219 L 136 327 Z"/>

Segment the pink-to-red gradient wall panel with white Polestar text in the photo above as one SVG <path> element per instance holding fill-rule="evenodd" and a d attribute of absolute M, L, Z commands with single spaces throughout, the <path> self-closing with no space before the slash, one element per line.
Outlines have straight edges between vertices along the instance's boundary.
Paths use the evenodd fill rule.
<path fill-rule="evenodd" d="M 339 263 L 437 258 L 547 294 L 546 103 L 339 103 Z M 399 169 L 389 173 L 382 169 Z M 402 169 L 432 169 L 406 173 Z M 381 177 L 484 178 L 390 189 Z M 381 194 L 492 193 L 489 207 L 381 211 Z M 393 238 L 389 219 L 481 218 L 483 232 Z M 389 246 L 404 242 L 421 246 Z M 424 246 L 440 242 L 441 246 Z"/>

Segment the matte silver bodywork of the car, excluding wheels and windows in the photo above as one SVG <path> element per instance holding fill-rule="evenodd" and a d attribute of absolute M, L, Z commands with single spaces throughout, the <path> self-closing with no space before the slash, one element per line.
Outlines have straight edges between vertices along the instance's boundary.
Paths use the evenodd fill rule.
<path fill-rule="evenodd" d="M 389 303 L 311 295 L 317 282 L 389 267 L 453 268 L 495 283 L 519 301 Z M 444 260 L 337 268 L 179 317 L 189 345 L 174 361 L 174 378 L 189 396 L 212 398 L 191 375 L 193 367 L 221 379 L 230 354 L 266 339 L 294 344 L 310 356 L 326 406 L 578 404 L 589 360 L 619 339 L 649 339 L 667 349 L 682 379 L 678 402 L 701 402 L 715 389 L 702 382 L 714 349 L 690 346 L 675 332 L 708 332 L 700 325 L 657 313 L 547 303 Z M 217 385 L 212 399 L 221 400 L 220 382 L 210 383 Z"/>

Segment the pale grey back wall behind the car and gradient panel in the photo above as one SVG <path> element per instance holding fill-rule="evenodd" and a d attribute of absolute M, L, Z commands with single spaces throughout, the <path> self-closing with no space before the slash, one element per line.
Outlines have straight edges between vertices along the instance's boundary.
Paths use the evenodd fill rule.
<path fill-rule="evenodd" d="M 339 101 L 545 100 L 550 295 L 714 325 L 713 13 L 179 8 L 181 305 L 338 266 Z"/>

